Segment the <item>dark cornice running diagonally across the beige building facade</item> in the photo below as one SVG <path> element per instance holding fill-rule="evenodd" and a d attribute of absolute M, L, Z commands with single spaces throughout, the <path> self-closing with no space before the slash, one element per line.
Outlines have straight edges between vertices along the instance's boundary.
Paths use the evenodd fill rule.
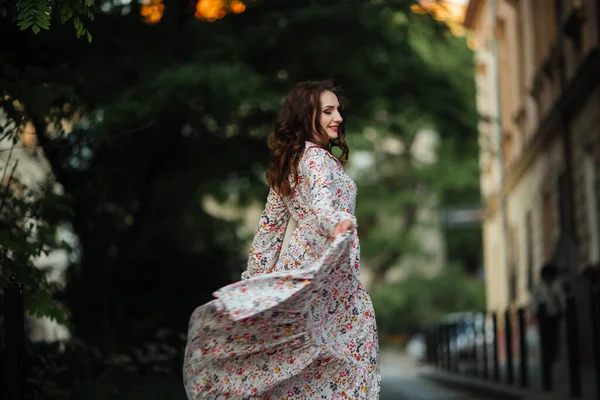
<path fill-rule="evenodd" d="M 502 187 L 505 195 L 509 194 L 519 183 L 540 151 L 560 134 L 564 126 L 563 122 L 580 108 L 581 103 L 586 101 L 598 86 L 600 82 L 599 53 L 598 48 L 588 53 L 575 76 L 566 85 L 562 95 L 555 101 L 547 117 L 540 122 L 533 137 L 524 146 L 521 156 L 507 171 Z"/>

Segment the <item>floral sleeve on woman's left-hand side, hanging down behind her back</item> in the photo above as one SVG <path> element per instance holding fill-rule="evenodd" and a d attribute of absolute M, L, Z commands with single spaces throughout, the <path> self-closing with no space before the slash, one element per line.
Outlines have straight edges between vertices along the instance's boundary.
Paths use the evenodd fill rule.
<path fill-rule="evenodd" d="M 290 213 L 283 199 L 271 188 L 267 204 L 260 215 L 258 229 L 250 248 L 246 271 L 242 273 L 242 279 L 248 279 L 273 269 L 279 259 L 289 220 Z"/>

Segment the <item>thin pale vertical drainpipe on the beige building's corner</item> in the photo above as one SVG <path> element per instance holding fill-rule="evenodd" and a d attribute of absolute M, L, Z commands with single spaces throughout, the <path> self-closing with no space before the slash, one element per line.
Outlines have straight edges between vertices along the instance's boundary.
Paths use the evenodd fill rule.
<path fill-rule="evenodd" d="M 502 261 L 505 266 L 506 271 L 506 282 L 508 283 L 508 278 L 510 278 L 510 266 L 509 266 L 509 257 L 508 257 L 508 248 L 510 243 L 508 242 L 508 216 L 507 216 L 507 207 L 506 207 L 506 195 L 504 194 L 504 181 L 505 181 L 505 170 L 504 170 L 504 148 L 503 148 L 503 134 L 502 134 L 502 104 L 500 97 L 500 63 L 499 63 L 499 51 L 498 51 L 498 38 L 497 38 L 497 30 L 496 25 L 498 22 L 498 2 L 497 0 L 490 0 L 489 2 L 490 13 L 492 26 L 494 27 L 494 34 L 492 36 L 491 47 L 492 47 L 492 62 L 493 62 L 493 80 L 494 80 L 494 90 L 496 93 L 496 118 L 495 118 L 495 130 L 496 130 L 496 140 L 498 144 L 498 149 L 496 151 L 498 169 L 500 171 L 500 218 L 502 221 L 502 240 L 504 241 L 503 251 L 502 251 Z M 510 305 L 510 288 L 506 288 L 506 298 L 508 299 L 508 304 Z M 498 310 L 503 311 L 503 310 Z"/>

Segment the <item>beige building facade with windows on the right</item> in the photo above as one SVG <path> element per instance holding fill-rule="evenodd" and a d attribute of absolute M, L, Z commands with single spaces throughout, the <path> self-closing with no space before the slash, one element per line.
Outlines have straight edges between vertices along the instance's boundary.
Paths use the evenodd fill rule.
<path fill-rule="evenodd" d="M 469 2 L 490 311 L 529 304 L 553 260 L 589 326 L 579 271 L 600 259 L 599 25 L 598 0 Z"/>

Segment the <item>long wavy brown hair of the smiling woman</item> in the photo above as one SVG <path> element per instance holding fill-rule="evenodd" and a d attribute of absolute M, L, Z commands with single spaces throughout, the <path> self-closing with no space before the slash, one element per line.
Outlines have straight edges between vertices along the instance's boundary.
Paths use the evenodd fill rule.
<path fill-rule="evenodd" d="M 329 139 L 319 123 L 321 118 L 321 94 L 332 92 L 340 103 L 339 113 L 344 119 L 338 128 L 338 138 Z M 267 182 L 282 196 L 289 196 L 298 182 L 298 162 L 306 141 L 318 144 L 331 152 L 339 147 L 342 154 L 337 157 L 340 163 L 348 161 L 344 103 L 341 88 L 333 79 L 298 83 L 287 95 L 275 121 L 268 145 L 271 160 L 267 171 Z M 290 179 L 291 178 L 291 179 Z"/>

